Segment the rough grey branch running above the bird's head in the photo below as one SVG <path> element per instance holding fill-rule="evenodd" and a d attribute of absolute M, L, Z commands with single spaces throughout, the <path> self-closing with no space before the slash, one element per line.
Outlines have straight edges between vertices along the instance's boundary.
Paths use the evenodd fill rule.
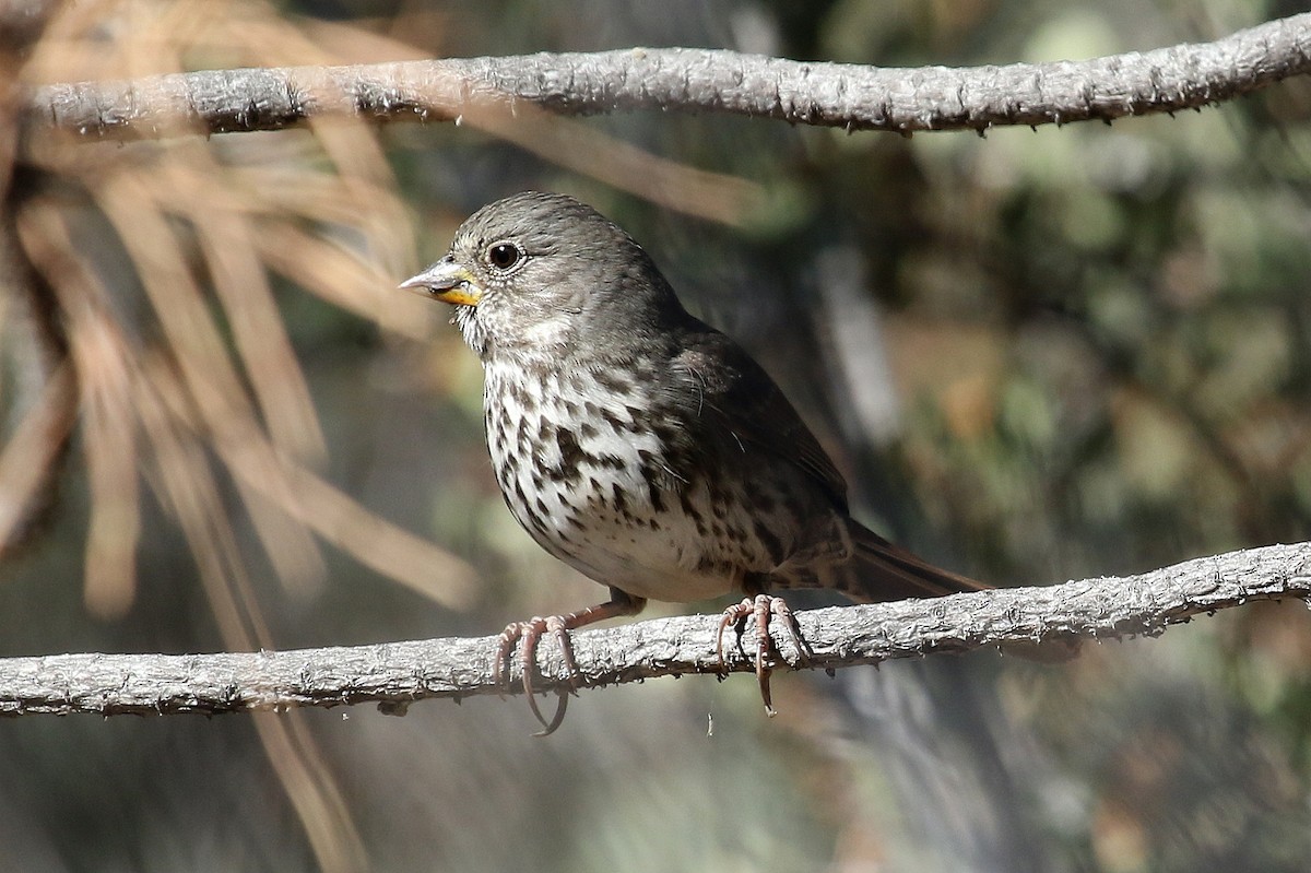
<path fill-rule="evenodd" d="M 1311 13 L 1083 62 L 894 69 L 632 48 L 52 84 L 28 105 L 35 127 L 111 139 L 279 130 L 326 115 L 451 119 L 524 102 L 573 115 L 682 109 L 909 134 L 1197 109 L 1308 69 Z"/>

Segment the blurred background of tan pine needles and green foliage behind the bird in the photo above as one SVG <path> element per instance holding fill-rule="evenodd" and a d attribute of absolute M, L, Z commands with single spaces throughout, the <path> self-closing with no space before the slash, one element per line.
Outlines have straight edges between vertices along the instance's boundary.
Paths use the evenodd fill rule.
<path fill-rule="evenodd" d="M 35 5 L 45 29 L 0 47 L 20 83 L 629 46 L 973 66 L 1303 10 Z M 527 187 L 624 225 L 784 385 L 857 514 L 935 562 L 1041 585 L 1307 539 L 1308 118 L 1294 80 L 986 138 L 678 113 L 127 146 L 7 126 L 0 654 L 481 636 L 598 602 L 502 506 L 448 312 L 395 290 Z M 777 675 L 772 721 L 743 676 L 583 692 L 545 741 L 496 699 L 21 718 L 0 844 L 31 870 L 1304 869 L 1308 666 L 1306 607 L 1262 603 L 1061 665 Z"/>

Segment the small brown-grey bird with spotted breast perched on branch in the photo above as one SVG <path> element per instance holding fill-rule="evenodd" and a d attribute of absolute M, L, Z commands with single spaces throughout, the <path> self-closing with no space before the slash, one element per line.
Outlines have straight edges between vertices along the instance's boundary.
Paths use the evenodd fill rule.
<path fill-rule="evenodd" d="M 523 191 L 469 215 L 444 257 L 401 283 L 454 305 L 484 368 L 482 410 L 510 513 L 556 558 L 607 586 L 604 603 L 510 623 L 496 679 L 519 645 L 532 672 L 543 634 L 577 676 L 570 632 L 637 615 L 648 600 L 741 595 L 724 634 L 758 623 L 756 676 L 777 620 L 804 659 L 787 603 L 832 589 L 856 602 L 977 591 L 852 518 L 847 484 L 783 391 L 737 342 L 688 313 L 653 258 L 566 194 Z"/>

